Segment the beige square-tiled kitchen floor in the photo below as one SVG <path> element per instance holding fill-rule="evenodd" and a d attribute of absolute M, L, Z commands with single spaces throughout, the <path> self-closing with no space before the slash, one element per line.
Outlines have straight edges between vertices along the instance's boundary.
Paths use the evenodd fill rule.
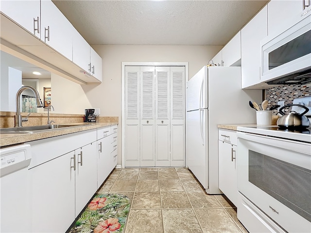
<path fill-rule="evenodd" d="M 233 204 L 187 168 L 116 168 L 99 192 L 132 201 L 124 233 L 247 233 Z"/>

